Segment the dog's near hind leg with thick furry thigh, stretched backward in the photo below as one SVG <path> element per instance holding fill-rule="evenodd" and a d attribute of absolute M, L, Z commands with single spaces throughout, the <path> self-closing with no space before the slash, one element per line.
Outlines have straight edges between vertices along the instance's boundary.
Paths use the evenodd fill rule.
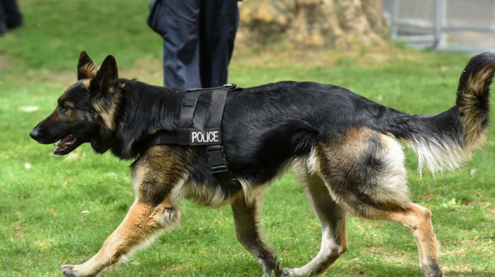
<path fill-rule="evenodd" d="M 318 172 L 337 204 L 357 216 L 407 228 L 417 242 L 424 274 L 442 276 L 431 211 L 409 200 L 404 154 L 395 139 L 369 129 L 349 129 L 317 146 L 315 153 Z"/>

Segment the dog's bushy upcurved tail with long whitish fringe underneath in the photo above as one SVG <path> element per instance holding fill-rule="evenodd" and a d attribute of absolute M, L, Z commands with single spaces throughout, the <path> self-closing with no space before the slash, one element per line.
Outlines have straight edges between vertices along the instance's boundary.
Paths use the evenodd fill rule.
<path fill-rule="evenodd" d="M 489 128 L 489 93 L 495 53 L 472 57 L 460 76 L 455 106 L 434 116 L 414 116 L 419 128 L 402 136 L 417 151 L 419 171 L 454 170 L 481 146 Z"/>

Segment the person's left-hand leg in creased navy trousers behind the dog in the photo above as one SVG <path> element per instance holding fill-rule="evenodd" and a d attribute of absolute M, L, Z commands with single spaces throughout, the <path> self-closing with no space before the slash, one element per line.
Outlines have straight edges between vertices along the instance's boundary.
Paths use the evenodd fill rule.
<path fill-rule="evenodd" d="M 199 78 L 199 0 L 163 1 L 163 74 L 166 87 L 201 88 Z"/>

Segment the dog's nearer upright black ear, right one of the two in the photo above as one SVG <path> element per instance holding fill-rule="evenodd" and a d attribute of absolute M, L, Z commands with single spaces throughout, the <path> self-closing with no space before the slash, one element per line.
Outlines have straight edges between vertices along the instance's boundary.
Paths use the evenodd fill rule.
<path fill-rule="evenodd" d="M 91 78 L 90 90 L 98 93 L 115 93 L 117 90 L 117 61 L 112 55 L 108 55 L 96 75 Z"/>

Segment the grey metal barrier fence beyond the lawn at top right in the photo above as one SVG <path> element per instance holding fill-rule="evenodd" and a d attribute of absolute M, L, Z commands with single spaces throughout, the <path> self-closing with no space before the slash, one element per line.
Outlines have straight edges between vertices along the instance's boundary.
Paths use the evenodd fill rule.
<path fill-rule="evenodd" d="M 392 40 L 438 51 L 495 51 L 495 0 L 382 0 Z"/>

